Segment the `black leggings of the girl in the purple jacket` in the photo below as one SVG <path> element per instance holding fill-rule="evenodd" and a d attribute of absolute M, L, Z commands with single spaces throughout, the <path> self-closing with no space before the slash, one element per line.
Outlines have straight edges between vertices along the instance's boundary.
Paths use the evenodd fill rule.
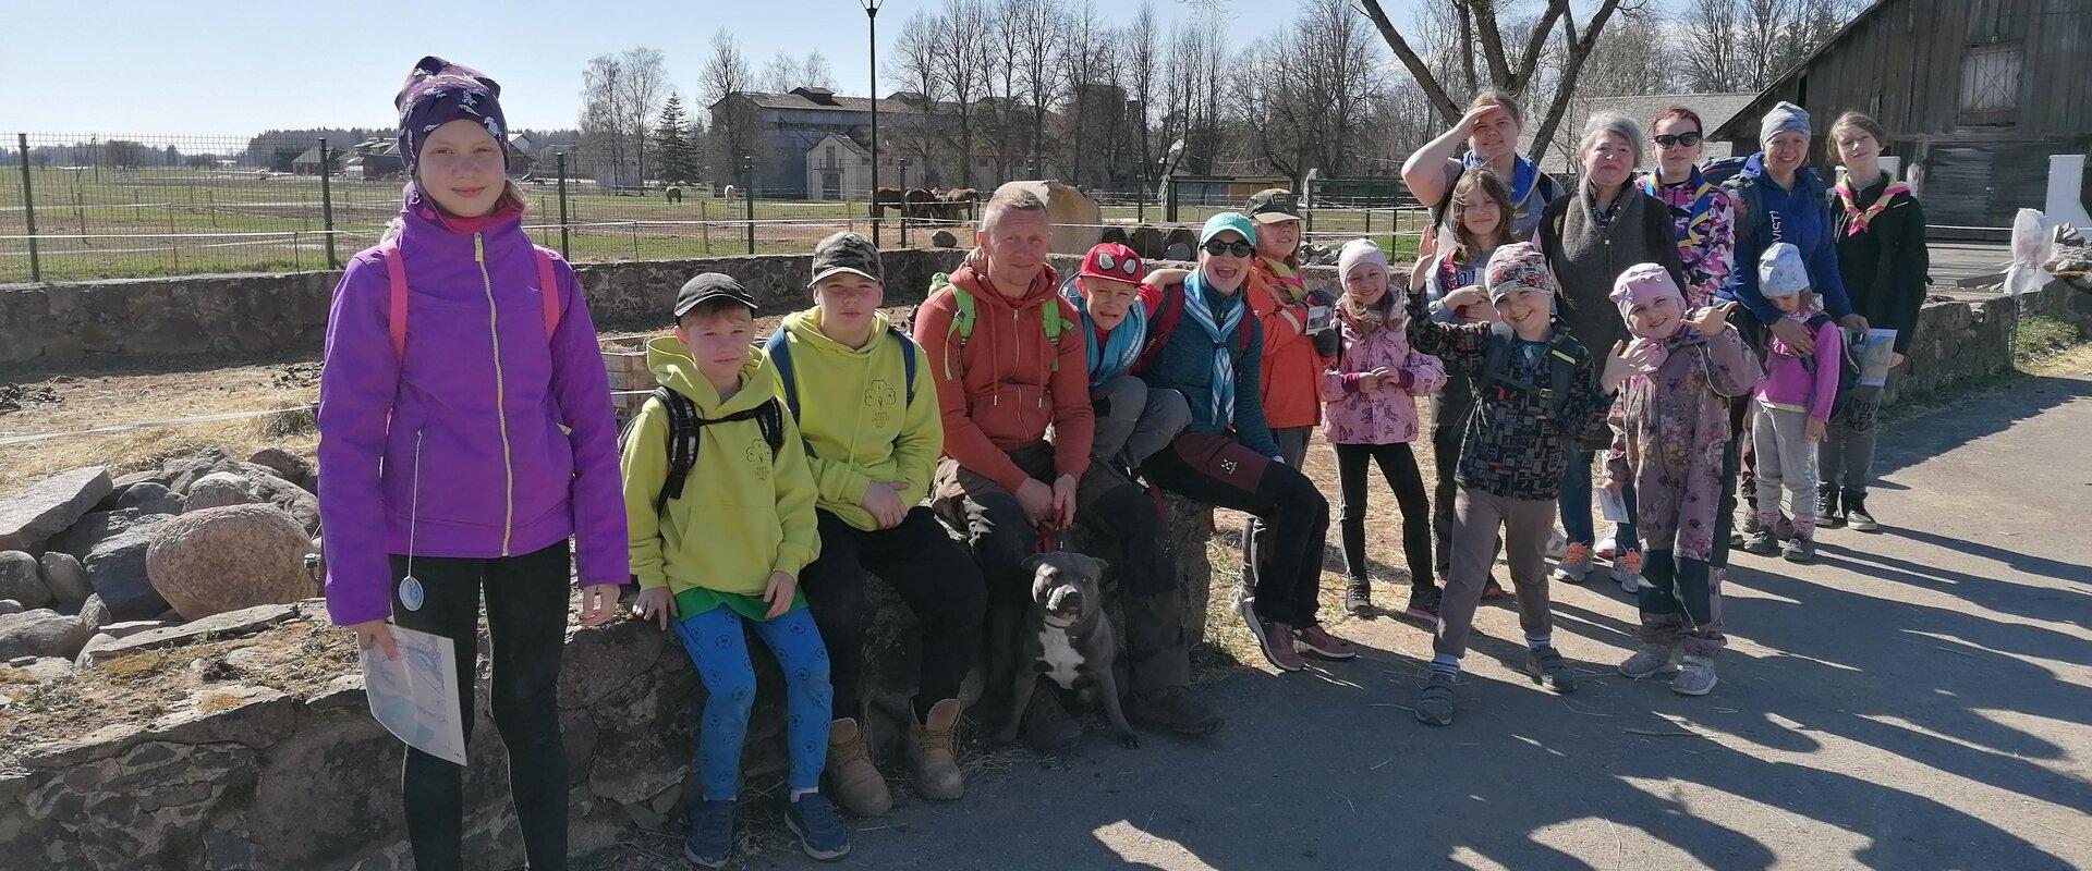
<path fill-rule="evenodd" d="M 531 869 L 567 867 L 567 752 L 559 735 L 559 662 L 567 645 L 569 551 L 561 541 L 536 554 L 414 558 L 423 604 L 400 602 L 408 560 L 393 554 L 393 622 L 456 641 L 458 710 L 473 739 L 479 675 L 479 589 L 487 591 L 494 639 L 494 729 L 508 748 L 508 794 Z M 406 838 L 420 871 L 464 867 L 464 767 L 406 750 L 400 773 Z"/>

